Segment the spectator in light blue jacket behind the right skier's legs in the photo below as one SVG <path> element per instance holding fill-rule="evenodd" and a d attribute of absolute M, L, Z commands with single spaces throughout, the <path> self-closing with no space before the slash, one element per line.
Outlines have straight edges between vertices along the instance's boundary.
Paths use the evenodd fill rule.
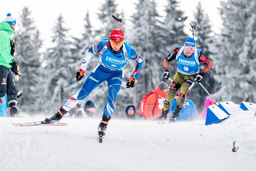
<path fill-rule="evenodd" d="M 177 99 L 180 96 L 180 92 L 177 93 L 176 97 L 171 101 L 171 108 L 170 108 L 170 112 L 174 112 L 176 105 L 177 105 Z M 193 103 L 192 100 L 190 99 L 186 99 L 185 104 L 182 107 L 180 116 L 178 121 L 190 121 L 190 120 L 195 120 L 197 119 L 197 109 L 195 104 Z"/>

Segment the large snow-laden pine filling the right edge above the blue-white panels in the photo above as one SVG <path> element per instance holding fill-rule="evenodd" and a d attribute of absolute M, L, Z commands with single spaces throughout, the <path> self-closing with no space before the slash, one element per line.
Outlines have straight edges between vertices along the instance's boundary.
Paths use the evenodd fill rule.
<path fill-rule="evenodd" d="M 223 29 L 214 61 L 220 87 L 213 94 L 219 101 L 256 102 L 255 9 L 255 1 L 221 2 Z"/>

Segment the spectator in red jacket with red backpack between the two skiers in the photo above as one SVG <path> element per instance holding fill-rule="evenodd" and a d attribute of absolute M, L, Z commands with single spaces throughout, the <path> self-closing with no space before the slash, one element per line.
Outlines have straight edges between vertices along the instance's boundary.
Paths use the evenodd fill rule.
<path fill-rule="evenodd" d="M 168 88 L 169 86 L 166 83 L 160 82 L 158 87 L 154 89 L 153 93 L 148 93 L 150 95 L 147 97 L 144 107 L 143 105 L 140 105 L 140 108 L 144 108 L 144 119 L 153 120 L 155 117 L 158 117 L 162 114 Z"/>

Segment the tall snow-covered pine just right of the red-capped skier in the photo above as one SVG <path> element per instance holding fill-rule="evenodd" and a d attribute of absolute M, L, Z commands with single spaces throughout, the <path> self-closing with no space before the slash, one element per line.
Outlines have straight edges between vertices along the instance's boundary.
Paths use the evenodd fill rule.
<path fill-rule="evenodd" d="M 139 0 L 137 13 L 133 15 L 131 31 L 132 45 L 145 59 L 145 66 L 136 84 L 137 107 L 149 91 L 154 90 L 163 80 L 163 59 L 168 33 L 156 11 L 155 0 Z"/>

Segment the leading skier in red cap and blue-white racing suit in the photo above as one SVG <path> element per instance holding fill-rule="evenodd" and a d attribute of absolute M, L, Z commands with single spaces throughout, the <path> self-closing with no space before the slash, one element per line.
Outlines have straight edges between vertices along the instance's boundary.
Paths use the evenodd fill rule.
<path fill-rule="evenodd" d="M 123 31 L 115 29 L 110 32 L 107 39 L 97 42 L 85 52 L 80 69 L 76 73 L 76 81 L 80 81 L 84 77 L 86 68 L 95 53 L 100 54 L 99 62 L 85 79 L 80 91 L 72 95 L 51 118 L 46 118 L 45 123 L 58 122 L 75 104 L 88 97 L 95 88 L 107 81 L 107 103 L 102 112 L 101 123 L 98 126 L 98 135 L 100 137 L 105 135 L 108 121 L 116 107 L 117 93 L 122 86 L 126 63 L 130 59 L 136 62 L 136 67 L 126 83 L 126 88 L 133 88 L 145 61 L 129 42 L 124 41 Z"/>

